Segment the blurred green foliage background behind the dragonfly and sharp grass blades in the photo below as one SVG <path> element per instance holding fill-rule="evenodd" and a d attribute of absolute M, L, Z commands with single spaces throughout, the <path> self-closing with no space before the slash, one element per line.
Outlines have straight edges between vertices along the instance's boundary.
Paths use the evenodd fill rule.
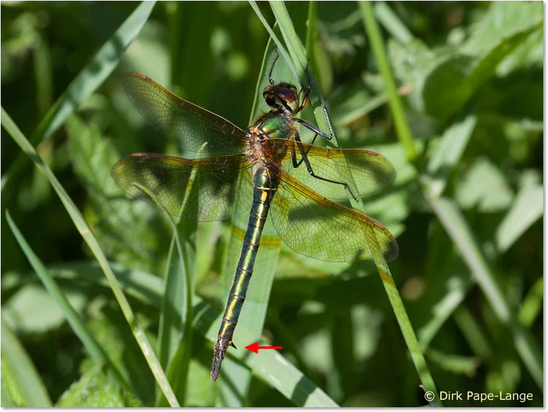
<path fill-rule="evenodd" d="M 102 55 L 100 63 L 114 70 L 98 81 L 99 49 L 105 42 L 116 44 L 114 32 L 138 5 L 2 2 L 1 104 L 27 138 L 34 136 L 40 157 L 118 265 L 116 273 L 149 275 L 146 281 L 137 277 L 133 289 L 123 285 L 157 345 L 171 225 L 160 211 L 123 197 L 109 172 L 129 153 L 176 152 L 132 108 L 121 75 L 144 73 L 245 128 L 264 75 L 269 34 L 244 1 L 160 2 L 125 53 Z M 387 80 L 379 74 L 358 3 L 286 3 L 317 86 L 327 96 L 340 145 L 379 151 L 397 170 L 393 186 L 364 203 L 370 216 L 397 235 L 400 257 L 390 270 L 434 383 L 438 391 L 464 394 L 532 394 L 525 402 L 480 403 L 464 396 L 443 401 L 446 406 L 541 406 L 543 4 L 374 1 L 372 6 L 414 158 L 399 140 Z M 271 5 L 260 2 L 258 8 L 273 27 L 277 16 Z M 301 24 L 307 18 L 314 22 L 308 37 Z M 86 66 L 88 76 L 63 97 Z M 93 81 L 98 87 L 86 88 Z M 76 107 L 67 106 L 71 116 L 53 133 L 43 133 L 49 123 L 42 119 L 58 116 L 54 103 L 60 96 Z M 7 177 L 21 149 L 5 129 L 1 147 L 3 406 L 159 402 L 145 358 L 49 181 L 31 162 Z M 92 361 L 15 241 L 6 209 L 129 385 Z M 199 224 L 192 234 L 195 294 L 217 311 L 227 294 L 221 274 L 229 237 L 230 222 Z M 314 399 L 317 386 L 343 407 L 427 403 L 374 267 L 314 261 L 282 245 L 274 275 L 263 336 L 283 345 L 285 359 L 310 379 L 295 388 L 305 388 Z M 251 288 L 259 276 L 256 272 Z M 242 387 L 238 381 L 232 383 L 236 387 L 212 383 L 213 344 L 204 335 L 196 326 L 179 402 L 300 406 L 298 396 L 284 396 L 256 375 Z M 21 371 L 34 380 L 21 378 Z M 25 395 L 40 391 L 45 395 L 38 400 Z"/>

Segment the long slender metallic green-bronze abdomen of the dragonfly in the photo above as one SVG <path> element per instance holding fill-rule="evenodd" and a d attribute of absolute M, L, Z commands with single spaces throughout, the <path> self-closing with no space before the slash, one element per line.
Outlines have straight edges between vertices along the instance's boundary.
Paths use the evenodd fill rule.
<path fill-rule="evenodd" d="M 253 168 L 253 205 L 251 205 L 240 260 L 238 266 L 236 266 L 236 274 L 234 274 L 234 281 L 232 281 L 227 307 L 221 321 L 221 328 L 213 353 L 211 378 L 214 381 L 219 376 L 221 362 L 225 358 L 228 347 L 234 346 L 232 336 L 247 295 L 262 229 L 269 213 L 272 198 L 277 190 L 277 185 L 275 178 L 265 168 L 262 166 Z"/>

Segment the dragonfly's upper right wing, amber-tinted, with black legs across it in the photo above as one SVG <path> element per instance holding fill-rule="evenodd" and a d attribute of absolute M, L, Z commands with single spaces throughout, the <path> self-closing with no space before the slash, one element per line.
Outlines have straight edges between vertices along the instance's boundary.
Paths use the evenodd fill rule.
<path fill-rule="evenodd" d="M 348 198 L 344 185 L 313 177 L 304 162 L 298 168 L 293 167 L 292 152 L 295 151 L 298 162 L 303 157 L 298 145 L 297 142 L 288 145 L 288 153 L 283 164 L 284 170 L 322 196 L 329 199 Z M 301 145 L 303 151 L 307 153 L 314 175 L 344 183 L 348 183 L 352 178 L 357 185 L 357 188 L 351 187 L 355 197 L 377 192 L 390 185 L 396 177 L 392 164 L 379 153 L 363 149 L 326 149 L 306 143 Z"/>

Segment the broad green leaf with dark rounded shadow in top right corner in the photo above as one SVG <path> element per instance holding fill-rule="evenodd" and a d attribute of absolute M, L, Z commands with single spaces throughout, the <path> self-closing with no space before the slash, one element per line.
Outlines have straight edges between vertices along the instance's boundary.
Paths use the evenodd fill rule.
<path fill-rule="evenodd" d="M 541 23 L 539 2 L 495 1 L 460 47 L 429 50 L 419 40 L 405 47 L 390 42 L 390 56 L 399 79 L 413 86 L 414 108 L 447 120 Z"/>

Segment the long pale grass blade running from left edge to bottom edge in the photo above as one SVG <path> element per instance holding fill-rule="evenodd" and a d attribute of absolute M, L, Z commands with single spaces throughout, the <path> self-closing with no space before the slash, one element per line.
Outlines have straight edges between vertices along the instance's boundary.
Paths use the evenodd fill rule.
<path fill-rule="evenodd" d="M 110 268 L 108 261 L 103 254 L 103 250 L 101 250 L 99 242 L 97 242 L 97 238 L 93 235 L 90 227 L 84 219 L 84 216 L 82 216 L 82 214 L 70 198 L 69 194 L 66 193 L 61 183 L 59 183 L 58 179 L 55 177 L 55 175 L 53 175 L 53 172 L 51 172 L 51 170 L 44 164 L 38 153 L 36 153 L 36 150 L 34 149 L 32 144 L 30 144 L 27 138 L 25 138 L 23 133 L 21 133 L 21 130 L 18 129 L 13 120 L 10 118 L 10 116 L 8 116 L 8 114 L 1 106 L 0 122 L 3 127 L 8 131 L 8 133 L 10 133 L 10 136 L 12 136 L 15 142 L 21 147 L 23 152 L 25 152 L 25 154 L 32 159 L 34 164 L 36 164 L 38 169 L 40 169 L 40 171 L 47 177 L 47 179 L 53 186 L 53 189 L 58 194 L 66 211 L 69 212 L 69 216 L 71 216 L 71 219 L 73 220 L 80 235 L 82 235 L 93 255 L 95 255 L 97 261 L 99 261 L 99 264 L 101 265 L 101 268 L 103 269 L 103 272 L 108 279 L 110 287 L 112 288 L 112 292 L 114 293 L 116 300 L 118 300 L 125 319 L 131 327 L 132 333 L 134 334 L 143 355 L 145 355 L 145 359 L 147 359 L 147 363 L 149 364 L 149 367 L 151 368 L 151 371 L 156 381 L 158 382 L 158 385 L 160 385 L 162 392 L 169 400 L 169 404 L 171 404 L 171 406 L 179 406 L 177 398 L 175 398 L 173 390 L 169 386 L 169 382 L 166 379 L 160 362 L 156 358 L 155 352 L 153 351 L 152 346 L 145 335 L 145 331 L 143 331 L 138 324 L 134 312 L 129 306 L 129 302 L 123 294 L 120 284 L 116 279 L 116 276 L 114 276 L 114 273 L 112 272 L 112 269 Z"/>

